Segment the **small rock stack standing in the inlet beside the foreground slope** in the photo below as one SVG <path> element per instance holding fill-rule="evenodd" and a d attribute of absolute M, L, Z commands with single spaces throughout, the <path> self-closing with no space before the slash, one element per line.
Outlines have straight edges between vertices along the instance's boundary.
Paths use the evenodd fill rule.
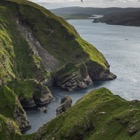
<path fill-rule="evenodd" d="M 72 106 L 72 99 L 70 96 L 63 97 L 60 102 L 60 106 L 56 109 L 56 115 L 59 115 Z"/>

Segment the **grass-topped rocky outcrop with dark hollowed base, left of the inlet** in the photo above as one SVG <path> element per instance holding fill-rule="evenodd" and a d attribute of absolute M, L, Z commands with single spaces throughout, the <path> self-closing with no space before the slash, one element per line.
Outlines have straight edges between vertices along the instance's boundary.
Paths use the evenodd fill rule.
<path fill-rule="evenodd" d="M 48 87 L 36 80 L 14 80 L 8 86 L 18 95 L 24 108 L 47 105 L 54 99 Z"/>

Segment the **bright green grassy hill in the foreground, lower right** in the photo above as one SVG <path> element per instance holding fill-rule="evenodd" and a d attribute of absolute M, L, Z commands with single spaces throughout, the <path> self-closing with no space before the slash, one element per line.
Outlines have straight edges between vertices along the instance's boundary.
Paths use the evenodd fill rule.
<path fill-rule="evenodd" d="M 44 125 L 35 136 L 47 140 L 139 140 L 140 102 L 101 88 Z"/>

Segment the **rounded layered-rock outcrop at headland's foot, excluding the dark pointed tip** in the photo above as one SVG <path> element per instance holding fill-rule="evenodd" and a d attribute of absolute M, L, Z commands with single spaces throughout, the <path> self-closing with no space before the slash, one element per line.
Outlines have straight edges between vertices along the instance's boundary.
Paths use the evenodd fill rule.
<path fill-rule="evenodd" d="M 55 79 L 58 86 L 69 91 L 86 88 L 92 84 L 85 64 L 75 66 L 74 63 L 68 63 L 58 71 Z"/>

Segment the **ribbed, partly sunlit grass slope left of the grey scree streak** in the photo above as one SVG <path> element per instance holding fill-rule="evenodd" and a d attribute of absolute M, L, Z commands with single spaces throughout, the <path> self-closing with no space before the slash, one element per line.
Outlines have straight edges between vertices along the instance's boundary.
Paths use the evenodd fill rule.
<path fill-rule="evenodd" d="M 38 64 L 39 59 L 32 54 L 31 46 L 17 29 L 15 8 L 8 7 L 5 2 L 0 5 L 1 81 L 10 81 L 15 77 L 40 80 L 40 75 L 43 75 L 39 69 L 41 64 Z"/>

